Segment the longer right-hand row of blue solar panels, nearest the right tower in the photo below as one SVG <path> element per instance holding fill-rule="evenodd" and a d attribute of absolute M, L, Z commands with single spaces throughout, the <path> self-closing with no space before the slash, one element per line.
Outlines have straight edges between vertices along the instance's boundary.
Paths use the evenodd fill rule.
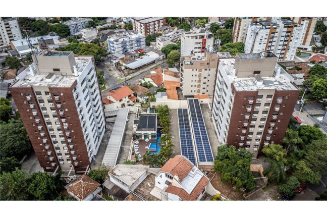
<path fill-rule="evenodd" d="M 204 125 L 199 99 L 187 99 L 199 162 L 213 162 L 213 155 Z"/>

